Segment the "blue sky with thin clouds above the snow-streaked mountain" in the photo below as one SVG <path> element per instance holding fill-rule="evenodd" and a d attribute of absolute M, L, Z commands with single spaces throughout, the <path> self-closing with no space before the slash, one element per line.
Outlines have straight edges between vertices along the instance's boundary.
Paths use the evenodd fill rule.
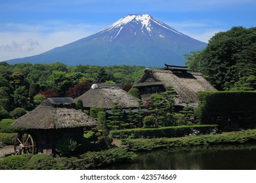
<path fill-rule="evenodd" d="M 256 26 L 255 0 L 1 0 L 0 61 L 41 54 L 144 13 L 203 42 L 234 26 Z"/>

